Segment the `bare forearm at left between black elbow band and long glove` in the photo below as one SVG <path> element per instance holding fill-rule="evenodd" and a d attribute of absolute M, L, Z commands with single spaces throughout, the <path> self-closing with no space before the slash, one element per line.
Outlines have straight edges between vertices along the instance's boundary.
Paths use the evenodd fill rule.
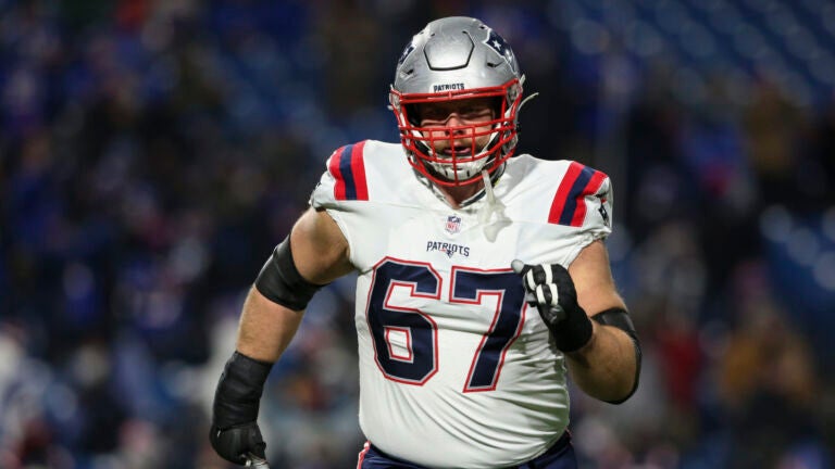
<path fill-rule="evenodd" d="M 250 289 L 240 316 L 237 351 L 258 360 L 274 363 L 296 334 L 302 314 L 267 300 L 254 288 Z"/>

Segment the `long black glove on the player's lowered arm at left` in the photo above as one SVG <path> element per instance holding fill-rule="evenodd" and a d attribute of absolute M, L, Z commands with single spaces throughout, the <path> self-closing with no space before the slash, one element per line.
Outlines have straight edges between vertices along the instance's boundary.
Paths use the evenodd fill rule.
<path fill-rule="evenodd" d="M 266 443 L 258 428 L 258 410 L 272 364 L 235 352 L 217 382 L 209 441 L 224 459 L 246 465 L 248 456 L 265 458 Z"/>

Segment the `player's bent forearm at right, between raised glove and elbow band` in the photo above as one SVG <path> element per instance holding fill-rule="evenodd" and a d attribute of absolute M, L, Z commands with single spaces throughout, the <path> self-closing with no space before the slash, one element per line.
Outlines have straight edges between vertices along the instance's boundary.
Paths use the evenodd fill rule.
<path fill-rule="evenodd" d="M 591 340 L 565 354 L 574 382 L 586 394 L 607 402 L 630 395 L 637 379 L 635 345 L 622 330 L 594 322 Z"/>

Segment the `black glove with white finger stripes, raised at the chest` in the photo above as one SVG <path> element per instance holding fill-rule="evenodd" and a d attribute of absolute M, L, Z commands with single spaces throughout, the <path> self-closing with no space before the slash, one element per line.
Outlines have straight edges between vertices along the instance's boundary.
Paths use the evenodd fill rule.
<path fill-rule="evenodd" d="M 536 306 L 557 348 L 574 352 L 588 343 L 591 320 L 577 304 L 574 280 L 565 267 L 559 264 L 527 265 L 519 259 L 513 261 L 511 267 L 522 276 L 527 303 Z"/>

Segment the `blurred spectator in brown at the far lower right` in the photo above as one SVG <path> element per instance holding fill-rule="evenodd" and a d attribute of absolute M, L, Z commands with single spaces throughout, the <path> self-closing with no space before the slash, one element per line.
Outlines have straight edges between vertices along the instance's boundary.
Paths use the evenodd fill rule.
<path fill-rule="evenodd" d="M 732 439 L 726 466 L 825 467 L 812 354 L 757 267 L 736 272 L 738 316 L 721 359 L 719 395 Z"/>

